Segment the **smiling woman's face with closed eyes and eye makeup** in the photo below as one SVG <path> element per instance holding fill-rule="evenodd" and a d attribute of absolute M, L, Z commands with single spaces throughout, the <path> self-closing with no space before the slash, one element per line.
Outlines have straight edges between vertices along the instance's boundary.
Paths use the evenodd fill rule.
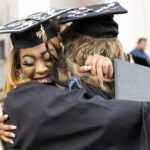
<path fill-rule="evenodd" d="M 55 51 L 52 44 L 49 47 Z M 53 67 L 53 62 L 44 43 L 32 48 L 21 49 L 19 58 L 21 72 L 26 79 L 42 83 L 52 82 L 50 79 L 50 70 Z"/>

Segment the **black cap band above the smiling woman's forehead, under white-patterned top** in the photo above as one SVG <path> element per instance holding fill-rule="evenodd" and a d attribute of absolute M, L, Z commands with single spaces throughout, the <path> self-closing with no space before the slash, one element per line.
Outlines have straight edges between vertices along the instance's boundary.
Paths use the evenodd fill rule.
<path fill-rule="evenodd" d="M 56 30 L 49 20 L 42 23 L 42 26 L 44 27 L 47 40 L 57 36 Z M 41 27 L 41 24 L 38 24 L 24 32 L 12 33 L 10 35 L 10 38 L 11 38 L 13 47 L 14 48 L 30 48 L 30 47 L 34 47 L 39 44 L 42 44 L 43 43 L 42 38 L 39 38 L 36 35 L 37 32 L 40 32 L 40 27 Z"/>

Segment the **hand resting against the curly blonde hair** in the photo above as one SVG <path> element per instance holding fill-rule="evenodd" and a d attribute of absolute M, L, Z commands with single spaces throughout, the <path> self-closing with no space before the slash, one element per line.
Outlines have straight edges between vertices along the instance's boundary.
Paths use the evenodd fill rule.
<path fill-rule="evenodd" d="M 87 71 L 90 71 L 94 76 L 98 76 L 99 80 L 103 78 L 111 79 L 113 76 L 111 59 L 98 54 L 90 55 L 85 61 L 85 66 L 80 67 L 80 72 Z"/>

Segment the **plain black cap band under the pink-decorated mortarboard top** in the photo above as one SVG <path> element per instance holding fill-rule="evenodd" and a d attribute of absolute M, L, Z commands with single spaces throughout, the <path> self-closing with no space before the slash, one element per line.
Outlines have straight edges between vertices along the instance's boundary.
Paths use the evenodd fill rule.
<path fill-rule="evenodd" d="M 119 34 L 118 24 L 113 20 L 113 15 L 75 21 L 72 26 L 79 33 L 94 38 L 113 38 Z"/>

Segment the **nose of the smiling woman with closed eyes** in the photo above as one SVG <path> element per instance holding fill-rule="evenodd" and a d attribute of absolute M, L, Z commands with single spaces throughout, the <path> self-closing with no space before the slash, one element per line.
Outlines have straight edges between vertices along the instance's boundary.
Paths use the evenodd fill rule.
<path fill-rule="evenodd" d="M 44 73 L 47 73 L 48 70 L 49 70 L 49 68 L 44 62 L 38 62 L 36 64 L 36 73 L 44 74 Z"/>

